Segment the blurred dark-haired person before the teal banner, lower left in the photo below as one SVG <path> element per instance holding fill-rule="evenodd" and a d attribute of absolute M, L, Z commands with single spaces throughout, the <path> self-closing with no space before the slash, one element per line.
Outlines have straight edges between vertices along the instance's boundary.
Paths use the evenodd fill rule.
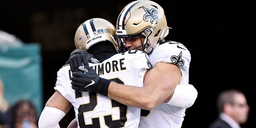
<path fill-rule="evenodd" d="M 36 106 L 29 100 L 20 100 L 11 110 L 11 128 L 38 128 Z"/>

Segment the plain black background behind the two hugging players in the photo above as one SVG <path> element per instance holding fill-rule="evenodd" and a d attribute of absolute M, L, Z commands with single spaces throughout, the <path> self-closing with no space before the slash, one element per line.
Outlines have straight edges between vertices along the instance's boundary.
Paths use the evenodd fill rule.
<path fill-rule="evenodd" d="M 42 107 L 54 93 L 56 72 L 75 49 L 74 34 L 89 18 L 104 18 L 112 24 L 131 0 L 96 1 L 5 1 L 0 8 L 0 29 L 24 43 L 37 43 L 42 54 Z M 250 106 L 248 122 L 255 120 L 254 62 L 251 46 L 255 36 L 252 1 L 158 0 L 172 27 L 167 40 L 183 43 L 192 56 L 190 84 L 198 90 L 194 105 L 187 109 L 182 128 L 208 127 L 217 117 L 217 94 L 236 88 L 246 94 Z M 74 118 L 73 110 L 60 122 L 62 128 Z"/>

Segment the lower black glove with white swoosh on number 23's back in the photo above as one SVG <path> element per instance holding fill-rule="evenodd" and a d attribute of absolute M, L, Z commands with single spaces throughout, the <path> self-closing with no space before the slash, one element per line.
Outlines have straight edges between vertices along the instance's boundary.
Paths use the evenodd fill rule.
<path fill-rule="evenodd" d="M 108 86 L 111 80 L 101 78 L 94 69 L 84 66 L 86 72 L 73 72 L 71 77 L 71 84 L 74 90 L 84 92 L 96 92 L 104 96 L 108 96 Z"/>

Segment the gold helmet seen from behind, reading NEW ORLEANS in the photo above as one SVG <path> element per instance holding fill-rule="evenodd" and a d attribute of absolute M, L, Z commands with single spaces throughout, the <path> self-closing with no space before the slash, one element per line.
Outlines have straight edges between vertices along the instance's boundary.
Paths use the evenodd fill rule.
<path fill-rule="evenodd" d="M 109 21 L 102 18 L 92 18 L 83 22 L 76 30 L 76 48 L 87 50 L 90 46 L 102 42 L 110 41 L 118 52 L 116 40 L 114 38 L 116 28 Z"/>

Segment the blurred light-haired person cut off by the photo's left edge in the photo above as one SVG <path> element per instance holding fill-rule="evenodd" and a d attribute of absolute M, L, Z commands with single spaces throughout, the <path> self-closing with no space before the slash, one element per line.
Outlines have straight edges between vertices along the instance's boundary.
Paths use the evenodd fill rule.
<path fill-rule="evenodd" d="M 10 113 L 9 103 L 4 98 L 4 83 L 0 78 L 0 128 L 9 128 Z"/>

